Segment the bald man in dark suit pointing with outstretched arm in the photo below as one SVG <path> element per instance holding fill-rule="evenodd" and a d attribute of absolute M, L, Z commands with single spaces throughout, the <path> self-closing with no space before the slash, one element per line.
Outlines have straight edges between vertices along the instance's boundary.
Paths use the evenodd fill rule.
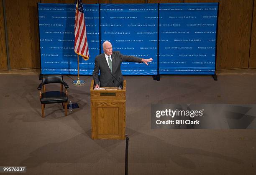
<path fill-rule="evenodd" d="M 95 67 L 93 70 L 93 79 L 95 88 L 118 87 L 123 84 L 123 75 L 121 72 L 121 62 L 144 62 L 148 65 L 153 59 L 143 59 L 128 55 L 122 55 L 119 51 L 113 51 L 110 42 L 105 41 L 102 45 L 104 53 L 95 57 Z M 100 86 L 98 74 L 100 71 Z"/>

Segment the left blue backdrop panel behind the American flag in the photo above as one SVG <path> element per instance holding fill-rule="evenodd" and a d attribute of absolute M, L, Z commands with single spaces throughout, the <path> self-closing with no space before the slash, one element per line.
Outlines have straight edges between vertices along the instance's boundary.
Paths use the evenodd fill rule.
<path fill-rule="evenodd" d="M 79 74 L 92 75 L 100 54 L 99 5 L 84 5 L 89 60 L 79 57 Z M 42 74 L 77 75 L 74 53 L 74 4 L 38 4 Z"/>

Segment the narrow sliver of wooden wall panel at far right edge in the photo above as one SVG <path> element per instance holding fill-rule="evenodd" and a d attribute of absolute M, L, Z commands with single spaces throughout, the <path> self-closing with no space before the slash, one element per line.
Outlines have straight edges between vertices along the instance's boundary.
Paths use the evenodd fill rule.
<path fill-rule="evenodd" d="M 254 7 L 253 7 L 253 23 L 251 28 L 251 48 L 250 48 L 249 67 L 256 68 L 256 0 L 254 0 Z"/>

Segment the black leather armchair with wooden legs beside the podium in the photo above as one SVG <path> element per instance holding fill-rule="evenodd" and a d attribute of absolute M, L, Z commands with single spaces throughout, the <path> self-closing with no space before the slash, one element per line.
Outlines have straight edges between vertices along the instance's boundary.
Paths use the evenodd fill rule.
<path fill-rule="evenodd" d="M 46 84 L 49 83 L 60 83 L 60 91 L 48 91 L 46 92 Z M 63 92 L 63 85 L 65 87 L 65 92 Z M 41 92 L 43 87 L 44 93 Z M 40 101 L 42 106 L 42 117 L 44 118 L 44 108 L 46 104 L 50 103 L 62 103 L 62 107 L 65 109 L 65 116 L 67 116 L 67 102 L 68 102 L 68 93 L 66 82 L 63 81 L 62 75 L 43 75 L 41 84 L 37 87 L 40 90 Z M 64 106 L 65 105 L 65 106 Z"/>

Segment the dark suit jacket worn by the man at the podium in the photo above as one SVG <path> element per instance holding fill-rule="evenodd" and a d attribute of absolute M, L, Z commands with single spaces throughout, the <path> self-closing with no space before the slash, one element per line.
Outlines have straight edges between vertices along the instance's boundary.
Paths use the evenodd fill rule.
<path fill-rule="evenodd" d="M 112 74 L 108 67 L 108 62 L 105 54 L 102 53 L 95 57 L 95 67 L 93 70 L 94 84 L 99 84 L 99 71 L 100 71 L 100 87 L 118 87 L 123 84 L 123 75 L 121 73 L 121 62 L 141 62 L 141 58 L 128 55 L 122 55 L 119 51 L 113 51 L 112 55 Z M 116 80 L 117 79 L 117 80 Z"/>

